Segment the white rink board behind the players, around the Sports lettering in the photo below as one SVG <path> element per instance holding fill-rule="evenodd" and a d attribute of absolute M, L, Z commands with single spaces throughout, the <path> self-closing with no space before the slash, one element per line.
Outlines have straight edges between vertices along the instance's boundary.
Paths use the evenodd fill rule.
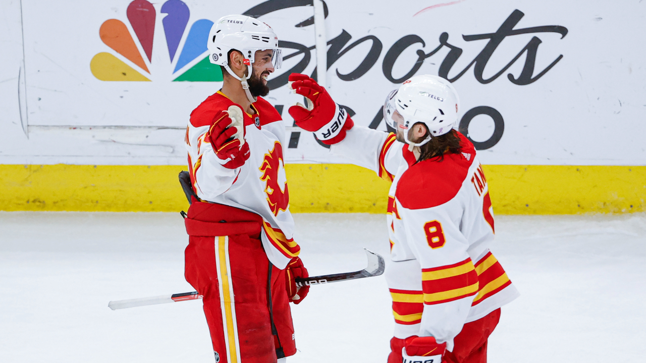
<path fill-rule="evenodd" d="M 0 3 L 8 28 L 8 32 L 0 34 L 0 43 L 8 50 L 0 56 L 6 65 L 0 71 L 0 164 L 185 163 L 182 129 L 191 110 L 218 90 L 221 83 L 172 82 L 177 76 L 172 72 L 178 56 L 171 62 L 162 25 L 165 14 L 161 14 L 161 6 L 165 1 L 154 4 L 157 20 L 152 61 L 143 54 L 130 26 L 126 14 L 130 0 L 105 0 L 92 6 L 81 0 L 21 3 L 22 8 L 17 2 Z M 264 4 L 265 9 L 291 6 L 260 19 L 273 26 L 282 41 L 311 48 L 315 43 L 314 25 L 295 26 L 313 15 L 311 6 L 303 6 L 306 3 L 187 0 L 190 17 L 177 52 L 182 50 L 195 21 L 215 21 L 259 4 Z M 645 165 L 646 51 L 641 45 L 646 41 L 646 27 L 642 26 L 646 3 L 462 0 L 423 4 L 400 1 L 393 6 L 391 1 L 383 0 L 329 0 L 327 5 L 326 33 L 332 41 L 328 50 L 329 92 L 337 102 L 356 112 L 353 119 L 358 125 L 372 124 L 386 130 L 383 121 L 378 122 L 379 117 L 375 120 L 385 95 L 415 67 L 416 52 L 432 52 L 446 32 L 446 42 L 454 47 L 453 51 L 463 51 L 448 73 L 444 72 L 448 78 L 456 78 L 477 60 L 453 83 L 462 101 L 461 117 L 475 107 L 485 106 L 499 112 L 503 119 L 499 141 L 488 143 L 489 148 L 481 152 L 483 163 Z M 515 10 L 524 15 L 521 17 Z M 267 12 L 256 10 L 263 11 Z M 125 59 L 99 37 L 99 27 L 108 19 L 119 19 L 129 27 L 147 61 L 150 74 L 144 75 L 151 82 L 101 81 L 90 72 L 90 60 L 99 52 Z M 501 38 L 501 43 L 490 49 L 491 55 L 485 56 L 490 41 L 487 34 L 500 37 L 499 28 L 505 21 L 515 24 L 508 32 L 534 29 Z M 473 37 L 478 34 L 485 36 Z M 26 85 L 22 93 L 18 92 L 26 103 L 22 104 L 22 115 L 16 95 L 23 60 L 21 36 L 25 39 Z M 424 46 L 411 42 L 410 47 L 393 47 L 398 41 L 401 44 L 404 37 L 421 40 Z M 344 52 L 361 39 L 365 41 Z M 530 50 L 536 50 L 535 57 L 530 56 L 528 61 L 528 53 L 524 52 L 491 80 L 528 45 Z M 450 63 L 449 50 L 445 45 L 422 59 L 416 74 L 439 74 L 443 65 Z M 284 50 L 286 56 L 293 52 L 293 48 Z M 302 61 L 306 67 L 301 67 L 301 72 L 312 74 L 315 50 L 306 52 L 309 61 L 304 54 L 286 59 L 284 67 L 270 78 L 273 83 Z M 394 64 L 395 57 L 387 54 L 399 54 Z M 554 67 L 532 83 L 521 81 L 517 83 L 528 84 L 518 85 L 508 78 L 508 74 L 515 79 L 527 79 L 530 74 L 537 78 L 556 59 Z M 486 67 L 481 69 L 485 62 Z M 286 85 L 282 85 L 272 90 L 267 99 L 274 105 L 283 105 L 282 115 L 291 123 L 287 107 L 300 98 L 289 94 Z M 298 130 L 286 130 L 286 140 L 292 138 L 292 132 Z M 500 132 L 498 126 L 496 134 Z M 494 134 L 494 122 L 488 116 L 475 116 L 469 133 L 475 141 L 488 140 Z M 286 150 L 288 162 L 343 162 L 331 158 L 328 150 L 306 132 L 300 134 L 297 147 Z"/>

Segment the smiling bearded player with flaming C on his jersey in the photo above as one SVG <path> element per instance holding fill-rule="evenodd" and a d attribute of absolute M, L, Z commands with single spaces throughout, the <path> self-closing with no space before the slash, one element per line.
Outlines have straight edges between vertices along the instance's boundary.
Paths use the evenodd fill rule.
<path fill-rule="evenodd" d="M 191 113 L 185 143 L 194 198 L 186 280 L 203 295 L 216 363 L 285 362 L 296 353 L 289 302 L 309 287 L 293 240 L 280 114 L 261 96 L 282 60 L 253 17 L 220 18 L 208 39 L 224 85 Z"/>

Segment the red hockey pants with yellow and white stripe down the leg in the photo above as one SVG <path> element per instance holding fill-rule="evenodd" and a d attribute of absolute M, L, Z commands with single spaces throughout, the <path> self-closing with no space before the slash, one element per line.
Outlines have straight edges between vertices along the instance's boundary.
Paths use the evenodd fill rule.
<path fill-rule="evenodd" d="M 262 218 L 194 202 L 184 222 L 185 277 L 203 296 L 216 363 L 275 363 L 294 355 L 285 273 L 267 260 Z"/>

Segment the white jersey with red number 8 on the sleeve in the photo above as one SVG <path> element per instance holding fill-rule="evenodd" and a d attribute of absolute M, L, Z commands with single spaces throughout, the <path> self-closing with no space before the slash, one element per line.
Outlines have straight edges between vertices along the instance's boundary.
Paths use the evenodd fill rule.
<path fill-rule="evenodd" d="M 466 322 L 519 294 L 489 251 L 494 214 L 473 144 L 459 134 L 461 154 L 417 162 L 394 134 L 355 126 L 332 145 L 356 165 L 392 182 L 388 195 L 395 337 L 447 342 Z"/>

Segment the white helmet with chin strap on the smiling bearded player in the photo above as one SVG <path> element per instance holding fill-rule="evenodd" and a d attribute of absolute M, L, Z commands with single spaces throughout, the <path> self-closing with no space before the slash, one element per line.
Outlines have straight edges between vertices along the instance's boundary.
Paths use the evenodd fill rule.
<path fill-rule="evenodd" d="M 255 61 L 256 50 L 271 49 L 274 51 L 272 62 L 275 68 L 282 64 L 282 52 L 278 48 L 278 36 L 271 26 L 250 16 L 227 15 L 223 16 L 211 26 L 209 40 L 209 60 L 211 63 L 224 67 L 233 78 L 242 82 L 242 88 L 247 93 L 249 101 L 256 99 L 249 92 L 247 79 L 251 77 L 251 63 Z M 242 78 L 229 68 L 229 50 L 238 50 L 244 57 L 247 65 L 247 75 Z"/>

